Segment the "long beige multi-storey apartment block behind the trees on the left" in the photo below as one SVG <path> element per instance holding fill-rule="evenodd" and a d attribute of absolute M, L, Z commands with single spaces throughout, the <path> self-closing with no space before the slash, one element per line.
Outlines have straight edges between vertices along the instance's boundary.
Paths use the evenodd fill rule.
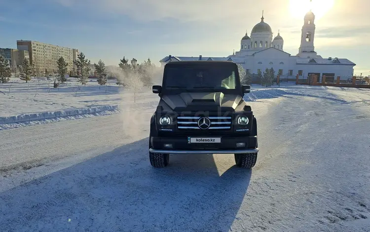
<path fill-rule="evenodd" d="M 58 69 L 57 61 L 63 57 L 68 64 L 68 72 L 74 67 L 78 49 L 61 47 L 48 43 L 31 40 L 17 40 L 17 48 L 29 52 L 30 64 L 35 68 L 45 72 L 56 72 Z"/>

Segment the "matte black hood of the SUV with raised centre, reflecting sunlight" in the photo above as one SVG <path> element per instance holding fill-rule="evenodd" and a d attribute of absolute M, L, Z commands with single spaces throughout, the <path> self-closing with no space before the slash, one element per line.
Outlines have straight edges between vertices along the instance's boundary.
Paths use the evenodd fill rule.
<path fill-rule="evenodd" d="M 163 101 L 163 102 L 162 102 Z M 165 103 L 165 104 L 163 104 Z M 166 106 L 165 106 L 166 105 Z M 185 92 L 181 94 L 163 95 L 159 106 L 172 111 L 235 111 L 243 108 L 243 97 L 237 94 L 222 92 Z"/>

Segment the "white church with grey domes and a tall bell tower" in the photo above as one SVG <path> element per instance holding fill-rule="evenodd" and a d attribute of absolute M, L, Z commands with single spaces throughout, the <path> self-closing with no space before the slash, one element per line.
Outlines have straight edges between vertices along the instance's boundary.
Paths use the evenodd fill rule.
<path fill-rule="evenodd" d="M 337 57 L 323 58 L 317 54 L 314 46 L 315 39 L 315 15 L 309 11 L 304 16 L 302 36 L 298 54 L 291 55 L 284 51 L 284 39 L 280 32 L 273 37 L 271 27 L 264 22 L 263 13 L 261 21 L 253 27 L 251 36 L 247 34 L 241 39 L 240 51 L 227 57 L 182 57 L 167 56 L 160 60 L 162 67 L 173 61 L 232 61 L 240 64 L 251 74 L 263 73 L 266 68 L 273 68 L 275 74 L 280 74 L 281 79 L 306 78 L 310 74 L 318 76 L 321 81 L 323 76 L 326 80 L 341 80 L 353 77 L 355 63 L 348 59 Z"/>

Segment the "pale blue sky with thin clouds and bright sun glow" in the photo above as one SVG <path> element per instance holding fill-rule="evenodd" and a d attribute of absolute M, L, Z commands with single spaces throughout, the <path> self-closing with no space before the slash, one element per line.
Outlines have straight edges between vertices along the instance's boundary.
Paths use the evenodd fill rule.
<path fill-rule="evenodd" d="M 0 0 L 0 47 L 37 40 L 77 48 L 92 63 L 125 56 L 159 65 L 165 56 L 231 55 L 262 10 L 284 51 L 296 55 L 303 17 L 316 15 L 315 50 L 370 75 L 369 0 Z M 250 33 L 248 33 L 250 35 Z"/>

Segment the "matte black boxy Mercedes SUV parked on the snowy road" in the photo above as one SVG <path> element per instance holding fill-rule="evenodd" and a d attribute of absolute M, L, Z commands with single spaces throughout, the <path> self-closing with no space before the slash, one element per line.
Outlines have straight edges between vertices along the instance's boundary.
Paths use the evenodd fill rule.
<path fill-rule="evenodd" d="M 257 120 L 243 100 L 238 66 L 228 61 L 178 61 L 164 67 L 161 98 L 150 121 L 149 158 L 165 167 L 170 154 L 234 154 L 236 165 L 257 161 Z"/>

